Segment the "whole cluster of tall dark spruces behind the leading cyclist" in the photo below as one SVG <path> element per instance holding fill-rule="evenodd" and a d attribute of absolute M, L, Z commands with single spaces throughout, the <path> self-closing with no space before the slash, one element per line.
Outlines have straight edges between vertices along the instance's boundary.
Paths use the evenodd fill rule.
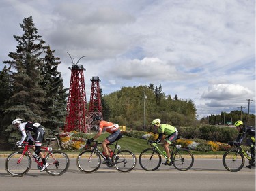
<path fill-rule="evenodd" d="M 44 46 L 31 16 L 24 18 L 20 27 L 24 33 L 14 35 L 18 43 L 16 52 L 10 52 L 10 60 L 3 61 L 10 67 L 4 67 L 0 75 L 3 82 L 10 84 L 3 86 L 8 97 L 1 97 L 4 102 L 0 108 L 1 136 L 6 141 L 10 137 L 9 142 L 16 136 L 10 126 L 14 118 L 40 122 L 49 134 L 54 134 L 63 126 L 66 116 L 67 89 L 63 88 L 63 79 L 57 72 L 59 58 L 53 56 L 50 46 Z"/>

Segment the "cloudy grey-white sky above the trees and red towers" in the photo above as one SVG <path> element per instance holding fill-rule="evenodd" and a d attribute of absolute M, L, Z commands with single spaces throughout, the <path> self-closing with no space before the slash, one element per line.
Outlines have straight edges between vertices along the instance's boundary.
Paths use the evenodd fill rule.
<path fill-rule="evenodd" d="M 72 65 L 85 67 L 104 94 L 122 86 L 162 85 L 191 99 L 201 117 L 255 113 L 255 1 L 253 0 L 1 0 L 0 59 L 16 52 L 13 35 L 33 17 L 38 34 L 61 59 L 66 88 Z M 0 65 L 0 69 L 3 64 Z"/>

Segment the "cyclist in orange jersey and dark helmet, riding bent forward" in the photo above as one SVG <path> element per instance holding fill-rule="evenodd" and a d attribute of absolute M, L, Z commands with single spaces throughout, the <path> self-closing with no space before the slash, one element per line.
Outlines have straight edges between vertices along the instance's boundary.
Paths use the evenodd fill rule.
<path fill-rule="evenodd" d="M 113 124 L 112 122 L 107 122 L 102 120 L 100 116 L 94 116 L 93 118 L 94 124 L 99 126 L 98 133 L 91 139 L 87 140 L 87 144 L 91 144 L 92 141 L 100 137 L 103 130 L 106 130 L 106 132 L 111 133 L 109 137 L 106 137 L 106 139 L 102 142 L 102 148 L 104 155 L 106 156 L 106 160 L 104 160 L 102 163 L 107 164 L 111 162 L 110 157 L 112 157 L 113 152 L 111 151 L 111 148 L 108 146 L 109 143 L 113 143 L 120 139 L 122 137 L 121 131 L 119 129 L 118 124 Z"/>

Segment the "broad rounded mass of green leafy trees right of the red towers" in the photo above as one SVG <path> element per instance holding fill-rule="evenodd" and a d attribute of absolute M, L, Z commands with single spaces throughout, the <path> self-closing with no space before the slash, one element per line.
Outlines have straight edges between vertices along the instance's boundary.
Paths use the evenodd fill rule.
<path fill-rule="evenodd" d="M 162 86 L 154 87 L 153 84 L 122 87 L 117 92 L 104 95 L 104 101 L 111 111 L 109 120 L 133 129 L 150 128 L 154 118 L 174 126 L 192 125 L 195 122 L 195 105 L 192 101 L 177 99 L 177 96 L 175 98 L 165 96 Z M 144 103 L 147 127 L 143 127 Z"/>

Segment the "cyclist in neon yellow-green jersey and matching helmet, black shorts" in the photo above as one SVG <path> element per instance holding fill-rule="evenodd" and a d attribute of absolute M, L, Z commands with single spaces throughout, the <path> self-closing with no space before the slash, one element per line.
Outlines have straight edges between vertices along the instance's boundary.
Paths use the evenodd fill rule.
<path fill-rule="evenodd" d="M 165 143 L 163 147 L 165 148 L 165 152 L 167 154 L 167 160 L 162 164 L 169 165 L 171 164 L 171 154 L 169 150 L 169 145 L 171 145 L 171 143 L 177 139 L 178 132 L 175 126 L 171 126 L 169 124 L 160 124 L 160 123 L 161 123 L 160 119 L 155 119 L 152 121 L 152 124 L 158 128 L 158 133 L 159 133 L 158 139 L 156 139 L 156 143 L 159 143 L 162 137 L 166 135 L 164 139 Z"/>

